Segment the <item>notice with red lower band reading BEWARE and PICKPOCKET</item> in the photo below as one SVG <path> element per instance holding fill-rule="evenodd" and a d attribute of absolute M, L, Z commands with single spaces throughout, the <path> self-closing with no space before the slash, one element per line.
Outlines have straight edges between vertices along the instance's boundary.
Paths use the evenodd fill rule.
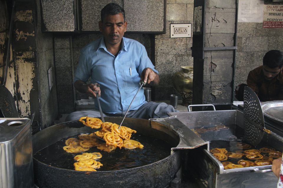
<path fill-rule="evenodd" d="M 262 28 L 283 28 L 283 5 L 264 5 Z"/>

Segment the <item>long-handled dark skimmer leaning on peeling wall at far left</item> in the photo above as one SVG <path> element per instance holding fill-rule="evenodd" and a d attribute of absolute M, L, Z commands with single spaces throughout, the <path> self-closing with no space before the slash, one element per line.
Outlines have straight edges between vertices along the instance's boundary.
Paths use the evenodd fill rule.
<path fill-rule="evenodd" d="M 0 110 L 1 110 L 2 114 L 4 115 L 4 117 L 6 117 L 6 118 L 8 118 L 8 117 L 15 117 L 15 118 L 19 117 L 13 95 L 5 87 L 7 72 L 8 72 L 8 59 L 9 59 L 9 55 L 10 55 L 12 28 L 13 28 L 13 23 L 14 23 L 15 4 L 16 4 L 16 1 L 13 2 L 13 7 L 12 7 L 8 46 L 6 48 L 7 49 L 6 62 L 5 62 L 6 64 L 5 64 L 5 68 L 4 68 L 3 80 L 2 80 L 2 83 L 0 85 Z"/>

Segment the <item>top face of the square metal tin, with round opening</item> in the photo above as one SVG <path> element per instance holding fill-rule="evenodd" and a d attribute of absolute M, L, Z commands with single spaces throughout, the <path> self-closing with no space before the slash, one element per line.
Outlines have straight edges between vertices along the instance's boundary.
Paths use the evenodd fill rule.
<path fill-rule="evenodd" d="M 0 143 L 13 140 L 30 124 L 28 118 L 0 118 Z"/>

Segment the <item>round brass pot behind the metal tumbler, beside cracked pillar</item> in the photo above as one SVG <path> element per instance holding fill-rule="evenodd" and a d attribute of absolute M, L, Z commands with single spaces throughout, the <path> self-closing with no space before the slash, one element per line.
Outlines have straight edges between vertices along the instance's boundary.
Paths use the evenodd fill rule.
<path fill-rule="evenodd" d="M 192 92 L 193 66 L 181 66 L 181 70 L 173 76 L 174 88 L 179 92 Z"/>

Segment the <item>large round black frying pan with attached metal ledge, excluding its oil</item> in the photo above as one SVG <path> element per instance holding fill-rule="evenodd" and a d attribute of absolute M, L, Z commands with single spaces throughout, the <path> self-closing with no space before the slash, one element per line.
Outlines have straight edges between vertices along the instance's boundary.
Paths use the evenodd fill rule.
<path fill-rule="evenodd" d="M 123 117 L 105 117 L 108 122 L 121 122 Z M 194 132 L 175 117 L 163 119 L 125 118 L 124 126 L 130 127 L 145 136 L 159 138 L 170 143 L 171 155 L 157 162 L 131 169 L 82 172 L 53 167 L 34 158 L 35 184 L 39 187 L 169 187 L 181 166 L 182 149 L 206 146 Z M 174 126 L 173 126 L 174 125 Z M 61 140 L 82 132 L 93 132 L 78 121 L 70 121 L 48 127 L 32 137 L 34 153 Z M 188 145 L 186 140 L 193 140 Z M 153 143 L 154 144 L 154 143 Z M 206 147 L 207 148 L 207 147 Z M 64 159 L 62 159 L 64 160 Z"/>

